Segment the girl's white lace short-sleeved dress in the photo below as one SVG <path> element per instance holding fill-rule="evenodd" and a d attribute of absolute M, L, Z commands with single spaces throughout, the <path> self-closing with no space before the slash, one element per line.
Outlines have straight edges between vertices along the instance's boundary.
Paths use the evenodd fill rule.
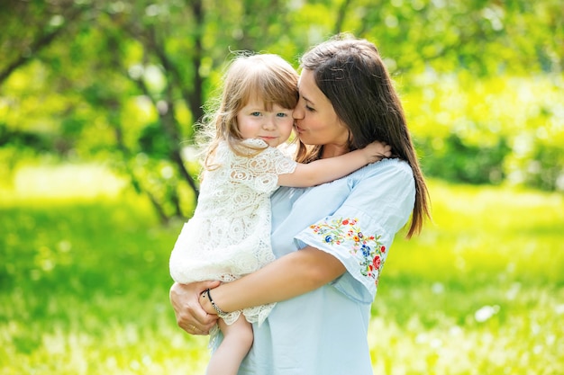
<path fill-rule="evenodd" d="M 266 147 L 260 139 L 244 143 Z M 270 245 L 270 194 L 277 189 L 278 174 L 290 174 L 296 162 L 275 147 L 257 156 L 237 156 L 223 142 L 214 164 L 205 171 L 196 211 L 170 254 L 170 275 L 180 283 L 233 281 L 274 261 Z M 250 323 L 262 323 L 274 304 L 245 308 Z M 241 311 L 223 320 L 232 324 Z"/>

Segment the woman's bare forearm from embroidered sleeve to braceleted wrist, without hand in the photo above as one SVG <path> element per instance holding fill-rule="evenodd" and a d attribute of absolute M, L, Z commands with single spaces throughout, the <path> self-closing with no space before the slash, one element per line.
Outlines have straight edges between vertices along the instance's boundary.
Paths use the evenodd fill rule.
<path fill-rule="evenodd" d="M 291 299 L 322 287 L 345 271 L 341 261 L 332 254 L 306 246 L 268 263 L 257 272 L 222 284 L 210 294 L 219 308 L 224 312 L 232 312 Z M 200 303 L 205 311 L 215 313 L 205 294 L 200 298 Z"/>

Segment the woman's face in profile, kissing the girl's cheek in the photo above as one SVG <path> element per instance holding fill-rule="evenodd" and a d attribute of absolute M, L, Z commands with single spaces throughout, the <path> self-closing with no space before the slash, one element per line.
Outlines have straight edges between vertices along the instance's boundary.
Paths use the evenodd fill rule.
<path fill-rule="evenodd" d="M 327 96 L 315 84 L 314 72 L 302 71 L 298 82 L 299 101 L 292 116 L 296 133 L 306 145 L 323 145 L 336 156 L 348 152 L 349 129 L 342 123 Z"/>

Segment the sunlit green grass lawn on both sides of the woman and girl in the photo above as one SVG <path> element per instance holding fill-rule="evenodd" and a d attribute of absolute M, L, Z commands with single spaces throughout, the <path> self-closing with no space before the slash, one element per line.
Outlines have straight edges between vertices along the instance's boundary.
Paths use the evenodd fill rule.
<path fill-rule="evenodd" d="M 206 338 L 183 334 L 168 303 L 181 224 L 160 226 L 96 168 L 15 177 L 0 190 L 0 375 L 204 373 Z M 434 223 L 397 237 L 380 282 L 375 372 L 563 373 L 564 197 L 431 192 Z"/>

